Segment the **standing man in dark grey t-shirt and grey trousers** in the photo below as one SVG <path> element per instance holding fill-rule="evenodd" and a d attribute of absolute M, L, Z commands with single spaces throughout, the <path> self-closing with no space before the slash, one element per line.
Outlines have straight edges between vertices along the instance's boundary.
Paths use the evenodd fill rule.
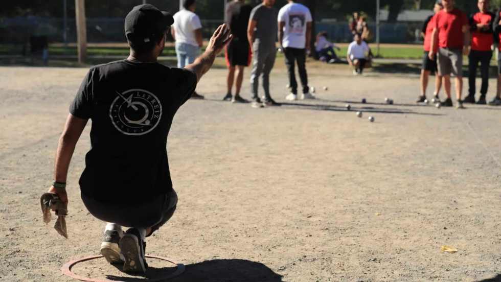
<path fill-rule="evenodd" d="M 273 8 L 275 0 L 263 0 L 250 13 L 247 37 L 252 44 L 253 65 L 250 74 L 252 106 L 279 106 L 269 94 L 269 74 L 277 56 L 278 11 Z M 263 76 L 264 101 L 258 97 L 259 77 Z"/>

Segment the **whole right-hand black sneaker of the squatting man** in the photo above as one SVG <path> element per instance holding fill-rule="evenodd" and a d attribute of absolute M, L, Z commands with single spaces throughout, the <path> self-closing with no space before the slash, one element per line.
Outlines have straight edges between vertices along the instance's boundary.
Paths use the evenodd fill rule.
<path fill-rule="evenodd" d="M 125 262 L 123 271 L 129 273 L 146 273 L 148 265 L 145 257 L 146 242 L 141 240 L 138 229 L 130 228 L 120 240 L 120 250 Z"/>

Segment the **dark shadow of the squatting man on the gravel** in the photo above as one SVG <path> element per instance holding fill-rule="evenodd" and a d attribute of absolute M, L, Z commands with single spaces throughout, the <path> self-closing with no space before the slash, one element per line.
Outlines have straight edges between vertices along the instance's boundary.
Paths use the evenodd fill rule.
<path fill-rule="evenodd" d="M 109 280 L 142 282 L 159 280 L 168 276 L 174 268 L 149 268 L 146 277 L 107 276 Z M 211 260 L 186 266 L 183 274 L 168 279 L 172 282 L 282 282 L 282 276 L 267 266 L 247 260 Z"/>

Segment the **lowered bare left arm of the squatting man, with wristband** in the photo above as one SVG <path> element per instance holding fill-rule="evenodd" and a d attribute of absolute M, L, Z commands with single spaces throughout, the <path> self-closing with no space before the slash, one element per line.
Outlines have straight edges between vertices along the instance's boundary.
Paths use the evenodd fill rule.
<path fill-rule="evenodd" d="M 75 151 L 75 146 L 77 145 L 78 139 L 87 121 L 88 120 L 80 119 L 71 113 L 68 115 L 64 131 L 61 137 L 59 137 L 59 145 L 57 146 L 56 160 L 54 163 L 54 181 L 66 183 L 68 168 L 70 167 L 70 161 Z M 51 186 L 49 192 L 57 194 L 61 201 L 66 204 L 68 203 L 65 189 L 56 189 L 54 186 Z"/>

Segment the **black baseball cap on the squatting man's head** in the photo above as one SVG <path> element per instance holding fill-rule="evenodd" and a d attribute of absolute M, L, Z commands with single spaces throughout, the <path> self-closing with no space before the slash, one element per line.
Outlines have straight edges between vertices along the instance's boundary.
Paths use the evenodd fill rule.
<path fill-rule="evenodd" d="M 171 14 L 150 4 L 135 6 L 125 17 L 125 36 L 134 44 L 144 44 L 163 34 L 174 23 Z"/>

